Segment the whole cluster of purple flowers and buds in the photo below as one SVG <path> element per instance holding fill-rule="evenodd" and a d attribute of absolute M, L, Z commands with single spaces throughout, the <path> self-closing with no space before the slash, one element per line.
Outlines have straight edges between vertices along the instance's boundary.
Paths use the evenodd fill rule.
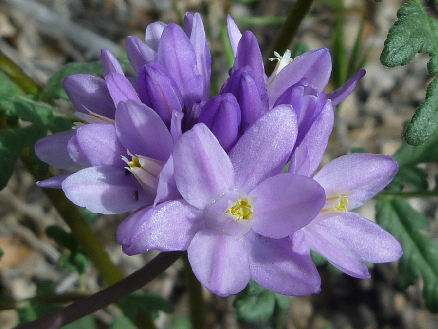
<path fill-rule="evenodd" d="M 123 251 L 187 250 L 196 277 L 220 296 L 250 279 L 285 295 L 319 292 L 310 250 L 358 278 L 369 278 L 367 262 L 400 258 L 394 237 L 350 212 L 392 180 L 395 160 L 351 154 L 316 173 L 333 106 L 365 71 L 325 94 L 328 49 L 293 60 L 276 54 L 267 77 L 256 37 L 230 17 L 228 33 L 235 62 L 215 97 L 199 14 L 188 13 L 184 29 L 149 25 L 145 42 L 128 37 L 138 77 L 126 77 L 106 50 L 104 78 L 66 77 L 83 122 L 43 138 L 36 152 L 55 167 L 82 169 L 39 186 L 62 188 L 95 213 L 135 210 L 117 231 Z"/>

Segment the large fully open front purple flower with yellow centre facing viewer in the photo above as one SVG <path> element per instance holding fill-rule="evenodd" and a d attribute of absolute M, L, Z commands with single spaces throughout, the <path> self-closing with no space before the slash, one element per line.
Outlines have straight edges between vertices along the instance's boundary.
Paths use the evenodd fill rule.
<path fill-rule="evenodd" d="M 196 277 L 221 296 L 250 279 L 282 294 L 318 292 L 310 250 L 288 238 L 325 203 L 316 181 L 281 173 L 296 136 L 288 105 L 261 116 L 229 155 L 204 124 L 195 125 L 172 155 L 182 198 L 130 215 L 117 231 L 124 252 L 187 250 Z"/>

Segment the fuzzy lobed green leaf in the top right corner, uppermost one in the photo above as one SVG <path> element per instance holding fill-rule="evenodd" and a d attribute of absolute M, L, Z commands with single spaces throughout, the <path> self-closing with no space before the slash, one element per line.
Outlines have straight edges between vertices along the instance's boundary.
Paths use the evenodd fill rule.
<path fill-rule="evenodd" d="M 409 64 L 417 53 L 432 58 L 430 73 L 438 71 L 438 23 L 428 17 L 420 1 L 412 0 L 397 12 L 397 20 L 388 32 L 380 57 L 383 65 L 396 67 Z"/>

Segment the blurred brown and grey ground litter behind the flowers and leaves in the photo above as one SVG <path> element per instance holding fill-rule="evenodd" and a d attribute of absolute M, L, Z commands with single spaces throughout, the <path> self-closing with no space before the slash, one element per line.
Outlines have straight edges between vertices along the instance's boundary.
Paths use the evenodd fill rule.
<path fill-rule="evenodd" d="M 99 59 L 107 48 L 124 57 L 124 39 L 129 35 L 144 38 L 147 24 L 155 21 L 179 22 L 186 11 L 200 12 L 204 19 L 213 58 L 213 90 L 228 77 L 223 33 L 230 14 L 243 30 L 251 30 L 259 40 L 264 58 L 269 53 L 281 24 L 291 9 L 292 0 L 0 0 L 0 49 L 27 75 L 44 86 L 49 77 L 70 62 Z M 388 29 L 396 20 L 402 0 L 315 0 L 304 19 L 293 50 L 328 47 L 333 54 L 333 74 L 328 90 L 339 87 L 358 68 L 367 74 L 356 91 L 336 109 L 335 128 L 323 163 L 353 149 L 392 155 L 401 145 L 402 124 L 410 120 L 416 106 L 424 100 L 429 75 L 426 55 L 417 55 L 406 67 L 388 69 L 380 64 Z M 428 13 L 437 18 L 434 1 Z M 359 38 L 358 38 L 359 36 Z M 358 40 L 360 41 L 358 43 Z M 359 47 L 359 48 L 358 48 Z M 354 72 L 353 72 L 354 71 Z M 73 117 L 73 106 L 56 101 L 58 115 Z M 432 166 L 432 165 L 428 165 Z M 433 173 L 436 168 L 424 166 Z M 431 220 L 431 234 L 438 236 L 437 200 L 411 200 L 411 205 Z M 374 218 L 374 204 L 359 209 Z M 85 213 L 94 232 L 112 261 L 129 274 L 156 253 L 128 257 L 115 240 L 118 223 L 124 218 Z M 79 275 L 59 265 L 65 250 L 48 238 L 48 225 L 68 230 L 37 188 L 34 178 L 18 163 L 8 186 L 0 192 L 0 329 L 13 328 L 25 316 L 26 300 L 46 285 L 55 292 L 92 293 L 103 287 L 92 264 Z M 376 265 L 371 280 L 359 280 L 319 268 L 322 293 L 291 299 L 285 314 L 288 329 L 434 329 L 438 316 L 430 313 L 421 297 L 422 283 L 402 290 L 397 286 L 397 264 Z M 188 303 L 183 281 L 183 263 L 178 261 L 145 287 L 161 294 L 175 308 L 172 314 L 160 313 L 158 328 L 189 328 Z M 212 329 L 274 328 L 275 321 L 246 323 L 233 308 L 233 296 L 221 298 L 205 292 L 208 327 Z M 73 296 L 73 295 L 72 295 Z M 72 297 L 73 298 L 73 297 Z M 21 311 L 11 310 L 16 306 Z M 93 328 L 111 328 L 121 311 L 111 306 L 95 315 Z M 85 325 L 86 326 L 86 325 Z M 72 327 L 87 328 L 87 327 Z M 91 328 L 91 327 L 90 327 Z M 121 327 L 123 328 L 123 327 Z"/>

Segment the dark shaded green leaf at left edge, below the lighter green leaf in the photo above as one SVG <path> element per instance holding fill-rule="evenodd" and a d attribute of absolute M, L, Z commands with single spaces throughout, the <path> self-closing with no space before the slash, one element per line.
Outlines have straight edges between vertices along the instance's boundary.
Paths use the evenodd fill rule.
<path fill-rule="evenodd" d="M 0 130 L 0 190 L 11 178 L 21 152 L 27 147 L 33 149 L 35 142 L 45 135 L 46 128 L 38 124 L 16 130 Z"/>

